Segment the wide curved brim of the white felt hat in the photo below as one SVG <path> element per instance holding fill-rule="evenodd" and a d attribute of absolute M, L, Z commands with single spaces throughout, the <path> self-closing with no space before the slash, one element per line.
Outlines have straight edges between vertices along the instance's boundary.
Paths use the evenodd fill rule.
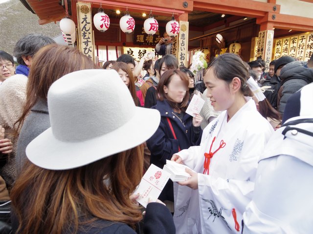
<path fill-rule="evenodd" d="M 135 107 L 134 116 L 123 126 L 84 141 L 58 140 L 50 127 L 28 144 L 26 156 L 35 165 L 50 170 L 81 167 L 140 145 L 152 137 L 159 122 L 157 110 Z"/>

